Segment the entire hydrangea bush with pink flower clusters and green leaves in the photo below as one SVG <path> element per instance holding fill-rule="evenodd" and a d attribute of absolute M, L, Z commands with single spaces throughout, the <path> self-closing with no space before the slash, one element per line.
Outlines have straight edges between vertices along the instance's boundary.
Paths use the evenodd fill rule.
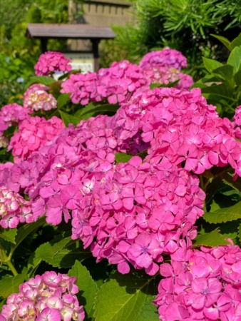
<path fill-rule="evenodd" d="M 0 320 L 239 320 L 240 106 L 169 48 L 69 63 L 41 55 L 0 110 Z"/>

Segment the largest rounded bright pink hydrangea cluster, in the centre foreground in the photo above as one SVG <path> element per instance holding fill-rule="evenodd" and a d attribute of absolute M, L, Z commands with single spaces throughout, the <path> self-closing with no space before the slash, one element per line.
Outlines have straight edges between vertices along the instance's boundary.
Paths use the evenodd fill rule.
<path fill-rule="evenodd" d="M 170 163 L 153 166 L 135 156 L 106 166 L 101 177 L 83 181 L 73 210 L 72 238 L 91 245 L 99 262 L 107 258 L 118 271 L 136 269 L 154 275 L 162 253 L 178 249 L 180 238 L 195 238 L 195 221 L 203 214 L 205 193 L 199 180 Z"/>

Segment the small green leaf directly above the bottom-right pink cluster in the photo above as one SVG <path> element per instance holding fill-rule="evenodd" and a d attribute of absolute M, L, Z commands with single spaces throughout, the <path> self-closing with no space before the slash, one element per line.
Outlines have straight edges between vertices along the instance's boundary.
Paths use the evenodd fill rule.
<path fill-rule="evenodd" d="M 193 241 L 194 247 L 199 246 L 219 246 L 230 244 L 225 240 L 225 236 L 220 234 L 220 230 L 213 230 L 210 233 L 198 235 Z"/>

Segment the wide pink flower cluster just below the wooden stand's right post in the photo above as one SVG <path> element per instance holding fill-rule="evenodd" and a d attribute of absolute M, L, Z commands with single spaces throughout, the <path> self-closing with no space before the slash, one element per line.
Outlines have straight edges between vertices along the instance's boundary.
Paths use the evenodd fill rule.
<path fill-rule="evenodd" d="M 73 103 L 86 105 L 90 101 L 121 103 L 128 93 L 149 83 L 141 69 L 129 61 L 114 62 L 109 68 L 102 68 L 98 73 L 71 75 L 62 83 L 61 93 L 71 93 Z"/>

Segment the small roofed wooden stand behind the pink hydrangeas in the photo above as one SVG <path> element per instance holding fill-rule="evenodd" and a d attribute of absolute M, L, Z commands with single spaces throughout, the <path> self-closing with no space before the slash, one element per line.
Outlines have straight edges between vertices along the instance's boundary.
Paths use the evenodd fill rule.
<path fill-rule="evenodd" d="M 102 39 L 113 39 L 115 34 L 109 26 L 88 24 L 28 24 L 26 36 L 41 40 L 41 51 L 47 51 L 48 39 L 89 39 L 94 68 L 98 71 L 98 43 Z M 86 51 L 85 51 L 86 52 Z"/>

